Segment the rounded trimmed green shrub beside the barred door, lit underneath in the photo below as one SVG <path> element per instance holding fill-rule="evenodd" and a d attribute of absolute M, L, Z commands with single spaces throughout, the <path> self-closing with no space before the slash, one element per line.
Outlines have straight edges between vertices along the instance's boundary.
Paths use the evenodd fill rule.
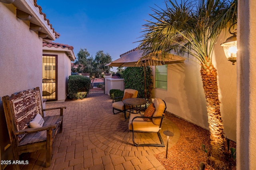
<path fill-rule="evenodd" d="M 68 96 L 70 99 L 84 99 L 90 90 L 91 79 L 83 75 L 68 77 Z"/>

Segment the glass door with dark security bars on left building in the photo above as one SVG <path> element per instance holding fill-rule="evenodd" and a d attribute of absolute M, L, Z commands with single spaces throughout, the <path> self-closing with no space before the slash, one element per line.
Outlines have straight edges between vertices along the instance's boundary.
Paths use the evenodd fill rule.
<path fill-rule="evenodd" d="M 57 55 L 43 55 L 43 99 L 57 100 Z"/>

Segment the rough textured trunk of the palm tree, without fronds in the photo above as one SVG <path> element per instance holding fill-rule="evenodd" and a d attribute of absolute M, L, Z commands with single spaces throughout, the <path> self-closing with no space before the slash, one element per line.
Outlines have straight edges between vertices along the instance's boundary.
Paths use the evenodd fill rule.
<path fill-rule="evenodd" d="M 208 114 L 208 123 L 210 129 L 210 156 L 214 162 L 224 160 L 224 136 L 223 124 L 220 114 L 220 101 L 218 98 L 217 71 L 212 63 L 206 63 L 208 66 L 201 67 L 201 76 L 203 81 L 204 93 L 206 98 L 206 108 Z M 211 159 L 211 158 L 210 158 Z"/>

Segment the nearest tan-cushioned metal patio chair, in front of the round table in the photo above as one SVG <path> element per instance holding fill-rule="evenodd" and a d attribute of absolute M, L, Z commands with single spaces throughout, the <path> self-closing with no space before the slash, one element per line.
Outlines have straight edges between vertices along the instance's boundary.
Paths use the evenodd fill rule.
<path fill-rule="evenodd" d="M 154 106 L 154 107 L 153 107 Z M 148 109 L 155 108 L 151 111 L 152 116 L 147 115 L 146 112 Z M 139 114 L 130 114 L 129 120 L 129 130 L 132 130 L 132 141 L 134 146 L 162 146 L 164 147 L 164 142 L 162 136 L 160 135 L 160 129 L 162 125 L 162 120 L 164 118 L 164 113 L 166 111 L 166 103 L 162 99 L 155 98 L 152 104 L 152 107 L 148 107 L 144 115 Z M 150 111 L 148 111 L 150 112 Z M 148 117 L 149 116 L 149 117 Z M 134 132 L 156 132 L 161 144 L 157 143 L 144 143 L 138 144 L 134 141 Z"/>

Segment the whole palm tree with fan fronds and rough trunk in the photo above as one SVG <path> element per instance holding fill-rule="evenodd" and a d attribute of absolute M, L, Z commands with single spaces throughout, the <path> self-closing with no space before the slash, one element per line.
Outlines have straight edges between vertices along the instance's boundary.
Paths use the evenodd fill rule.
<path fill-rule="evenodd" d="M 225 138 L 212 51 L 220 33 L 236 23 L 237 0 L 182 0 L 181 4 L 167 0 L 165 5 L 165 10 L 153 8 L 154 14 L 150 16 L 155 22 L 150 20 L 144 25 L 139 45 L 144 51 L 141 59 L 157 57 L 164 61 L 166 54 L 175 53 L 183 57 L 192 55 L 193 61 L 201 65 L 210 129 L 209 160 L 222 164 Z"/>

